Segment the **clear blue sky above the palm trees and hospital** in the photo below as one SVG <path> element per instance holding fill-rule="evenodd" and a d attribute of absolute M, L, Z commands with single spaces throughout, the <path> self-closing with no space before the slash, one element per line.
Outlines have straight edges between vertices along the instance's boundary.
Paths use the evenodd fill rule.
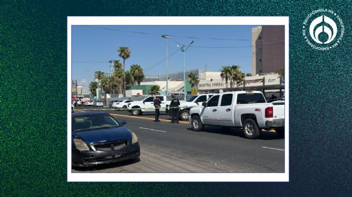
<path fill-rule="evenodd" d="M 207 65 L 211 71 L 219 72 L 221 66 L 239 65 L 242 72 L 251 73 L 251 29 L 256 26 L 259 25 L 74 25 L 72 79 L 88 87 L 95 71 L 110 72 L 109 60 L 123 62 L 117 52 L 121 46 L 131 50 L 126 70 L 138 64 L 147 75 L 166 74 L 166 39 L 161 35 L 185 45 L 194 40 L 185 52 L 186 70 Z M 168 44 L 169 56 L 175 52 L 168 59 L 169 73 L 183 71 L 180 47 L 171 39 Z"/>

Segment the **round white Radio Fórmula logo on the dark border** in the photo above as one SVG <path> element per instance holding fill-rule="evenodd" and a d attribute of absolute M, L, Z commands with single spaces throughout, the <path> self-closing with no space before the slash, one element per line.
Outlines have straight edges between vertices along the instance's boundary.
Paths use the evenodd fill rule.
<path fill-rule="evenodd" d="M 313 49 L 326 51 L 341 44 L 345 27 L 334 11 L 314 10 L 308 14 L 303 24 L 304 39 Z"/>

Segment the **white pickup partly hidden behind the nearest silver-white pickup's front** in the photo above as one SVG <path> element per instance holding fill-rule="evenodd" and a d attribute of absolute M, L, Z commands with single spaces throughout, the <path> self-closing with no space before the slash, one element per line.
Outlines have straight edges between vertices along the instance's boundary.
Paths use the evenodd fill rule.
<path fill-rule="evenodd" d="M 206 102 L 209 98 L 211 98 L 215 94 L 199 94 L 199 95 L 194 95 L 190 98 L 188 98 L 186 101 L 181 102 L 180 101 L 180 109 L 179 109 L 179 118 L 181 120 L 188 120 L 188 117 L 190 115 L 190 109 L 195 106 L 201 106 L 203 102 Z M 166 106 L 168 107 L 168 105 Z M 171 110 L 167 110 L 166 113 L 169 116 L 172 116 Z"/>

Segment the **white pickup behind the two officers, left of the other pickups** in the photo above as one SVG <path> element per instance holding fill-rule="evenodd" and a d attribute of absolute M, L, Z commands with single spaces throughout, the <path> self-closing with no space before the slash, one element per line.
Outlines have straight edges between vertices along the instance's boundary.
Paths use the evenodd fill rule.
<path fill-rule="evenodd" d="M 166 101 L 167 99 L 166 96 L 150 96 L 140 101 L 130 102 L 127 106 L 128 108 L 127 111 L 132 113 L 133 116 L 142 115 L 143 112 L 154 112 L 155 97 L 160 98 L 160 101 L 161 101 L 160 112 L 165 112 L 166 105 L 170 105 L 170 102 L 171 102 L 171 101 Z"/>

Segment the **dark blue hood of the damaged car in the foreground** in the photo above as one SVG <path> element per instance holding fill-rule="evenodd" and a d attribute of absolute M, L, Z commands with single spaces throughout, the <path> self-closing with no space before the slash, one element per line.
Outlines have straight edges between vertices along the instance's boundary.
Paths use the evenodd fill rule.
<path fill-rule="evenodd" d="M 75 132 L 72 132 L 72 136 L 74 138 L 80 138 L 88 144 L 95 143 L 95 142 L 102 142 L 102 141 L 132 139 L 131 132 L 125 127 L 75 131 Z"/>

